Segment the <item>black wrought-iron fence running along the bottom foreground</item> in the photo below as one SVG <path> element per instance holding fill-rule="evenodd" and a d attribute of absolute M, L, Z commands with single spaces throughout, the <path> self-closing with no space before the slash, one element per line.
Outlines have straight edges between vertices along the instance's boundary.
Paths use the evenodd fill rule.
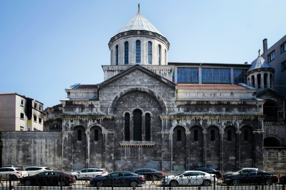
<path fill-rule="evenodd" d="M 280 175 L 278 176 L 280 178 Z M 266 179 L 266 178 L 265 178 Z M 48 176 L 46 178 L 33 178 L 25 177 L 15 179 L 15 176 L 1 176 L 0 190 L 285 190 L 285 181 L 275 182 L 274 178 L 268 181 L 262 178 L 255 180 L 254 177 L 250 177 L 250 180 L 244 180 L 242 177 L 238 177 L 235 180 L 226 181 L 223 177 L 216 181 L 213 177 L 211 184 L 205 178 L 205 176 L 187 177 L 187 179 L 181 179 L 180 177 L 173 177 L 172 180 L 168 179 L 168 176 L 160 176 L 158 180 L 146 180 L 145 184 L 140 184 L 138 179 L 132 180 L 136 183 L 131 183 L 126 177 L 120 177 L 114 179 L 109 177 L 109 186 L 105 183 L 102 185 L 91 185 L 90 178 L 73 179 L 73 183 L 59 175 L 56 177 Z M 270 181 L 269 181 L 270 180 Z M 104 182 L 103 177 L 99 180 Z M 214 181 L 216 181 L 214 183 Z M 208 186 L 209 185 L 209 186 Z"/>

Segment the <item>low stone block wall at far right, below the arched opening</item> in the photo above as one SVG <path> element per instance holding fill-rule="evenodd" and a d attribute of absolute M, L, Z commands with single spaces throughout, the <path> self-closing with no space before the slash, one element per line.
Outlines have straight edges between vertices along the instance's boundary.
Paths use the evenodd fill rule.
<path fill-rule="evenodd" d="M 286 171 L 286 147 L 264 147 L 264 170 L 267 172 L 281 173 Z"/>

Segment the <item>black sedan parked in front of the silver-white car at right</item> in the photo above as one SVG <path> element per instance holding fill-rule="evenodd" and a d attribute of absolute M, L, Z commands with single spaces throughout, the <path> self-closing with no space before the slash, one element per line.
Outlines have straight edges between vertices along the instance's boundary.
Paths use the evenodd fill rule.
<path fill-rule="evenodd" d="M 262 179 L 263 176 L 263 179 Z M 229 175 L 225 177 L 224 183 L 227 185 L 239 185 L 239 184 L 262 184 L 264 181 L 265 185 L 271 185 L 278 182 L 277 175 L 273 175 L 268 172 L 254 170 L 248 173 L 240 173 L 238 175 Z"/>

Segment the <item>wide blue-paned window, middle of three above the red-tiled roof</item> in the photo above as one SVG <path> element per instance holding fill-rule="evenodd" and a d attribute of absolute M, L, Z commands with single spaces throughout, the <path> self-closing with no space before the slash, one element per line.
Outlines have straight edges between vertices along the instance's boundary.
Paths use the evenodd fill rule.
<path fill-rule="evenodd" d="M 202 68 L 202 82 L 230 83 L 230 69 Z"/>

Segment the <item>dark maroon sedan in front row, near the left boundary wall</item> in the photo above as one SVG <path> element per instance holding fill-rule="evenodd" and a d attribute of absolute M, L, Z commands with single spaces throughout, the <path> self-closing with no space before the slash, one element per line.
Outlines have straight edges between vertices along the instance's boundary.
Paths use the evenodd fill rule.
<path fill-rule="evenodd" d="M 76 182 L 76 179 L 65 172 L 49 171 L 38 173 L 34 176 L 26 176 L 22 178 L 24 185 L 43 185 L 43 186 L 65 186 Z"/>

